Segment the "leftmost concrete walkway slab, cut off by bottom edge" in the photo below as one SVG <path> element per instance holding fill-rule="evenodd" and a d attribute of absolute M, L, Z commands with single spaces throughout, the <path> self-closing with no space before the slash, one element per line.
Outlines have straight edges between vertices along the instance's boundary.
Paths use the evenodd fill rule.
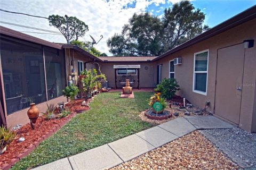
<path fill-rule="evenodd" d="M 33 170 L 72 170 L 71 165 L 69 164 L 68 158 L 63 158 L 52 162 L 50 164 L 46 164 L 43 166 L 39 166 L 34 168 Z"/>

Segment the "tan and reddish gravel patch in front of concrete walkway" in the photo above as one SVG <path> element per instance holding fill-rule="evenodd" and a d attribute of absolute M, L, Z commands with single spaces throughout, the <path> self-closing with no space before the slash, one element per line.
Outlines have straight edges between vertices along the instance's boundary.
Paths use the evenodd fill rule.
<path fill-rule="evenodd" d="M 238 169 L 221 150 L 194 131 L 115 169 Z"/>

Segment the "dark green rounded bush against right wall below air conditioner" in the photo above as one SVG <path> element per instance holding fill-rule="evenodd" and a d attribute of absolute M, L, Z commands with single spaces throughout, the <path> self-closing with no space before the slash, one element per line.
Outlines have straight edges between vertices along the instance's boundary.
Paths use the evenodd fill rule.
<path fill-rule="evenodd" d="M 172 96 L 175 95 L 175 92 L 180 90 L 178 82 L 171 78 L 166 79 L 164 78 L 160 84 L 158 84 L 155 88 L 155 91 L 160 91 L 162 96 L 166 99 L 171 99 Z"/>

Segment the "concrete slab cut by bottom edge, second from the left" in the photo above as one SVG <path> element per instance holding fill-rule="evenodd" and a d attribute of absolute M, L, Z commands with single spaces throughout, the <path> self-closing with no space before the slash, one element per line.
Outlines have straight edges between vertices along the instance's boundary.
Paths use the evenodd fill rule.
<path fill-rule="evenodd" d="M 71 156 L 69 157 L 69 161 L 73 170 L 106 169 L 123 163 L 108 145 L 103 145 Z"/>

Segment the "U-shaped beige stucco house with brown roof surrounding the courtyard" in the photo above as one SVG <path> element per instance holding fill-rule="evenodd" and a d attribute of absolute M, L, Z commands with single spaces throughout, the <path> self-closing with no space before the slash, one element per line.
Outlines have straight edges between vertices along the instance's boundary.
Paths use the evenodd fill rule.
<path fill-rule="evenodd" d="M 28 122 L 30 100 L 41 110 L 66 101 L 61 90 L 68 81 L 77 84 L 82 70 L 100 66 L 111 88 L 126 78 L 139 89 L 175 78 L 180 96 L 201 108 L 210 101 L 207 111 L 256 132 L 256 6 L 161 56 L 95 57 L 78 46 L 0 29 L 1 124 Z"/>

